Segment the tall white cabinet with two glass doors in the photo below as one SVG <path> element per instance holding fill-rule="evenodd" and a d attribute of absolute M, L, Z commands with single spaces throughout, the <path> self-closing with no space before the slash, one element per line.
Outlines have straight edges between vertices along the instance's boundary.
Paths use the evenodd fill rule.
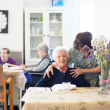
<path fill-rule="evenodd" d="M 37 54 L 39 43 L 49 46 L 49 54 L 56 46 L 64 45 L 65 8 L 42 7 L 25 8 L 25 64 L 40 61 Z"/>

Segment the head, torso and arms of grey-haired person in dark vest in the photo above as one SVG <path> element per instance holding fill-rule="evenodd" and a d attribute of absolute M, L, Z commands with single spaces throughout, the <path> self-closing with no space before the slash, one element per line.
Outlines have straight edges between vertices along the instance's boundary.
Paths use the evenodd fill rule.
<path fill-rule="evenodd" d="M 51 58 L 48 54 L 48 46 L 45 43 L 41 43 L 38 45 L 38 55 L 42 59 L 38 64 L 34 65 L 21 65 L 20 68 L 25 70 L 26 72 L 33 71 L 33 72 L 44 72 L 46 68 L 51 63 Z"/>

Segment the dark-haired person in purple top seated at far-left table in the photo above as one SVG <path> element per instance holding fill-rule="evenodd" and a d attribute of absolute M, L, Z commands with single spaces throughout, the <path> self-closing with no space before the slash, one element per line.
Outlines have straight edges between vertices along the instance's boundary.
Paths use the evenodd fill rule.
<path fill-rule="evenodd" d="M 1 49 L 1 57 L 0 57 L 0 64 L 3 66 L 3 64 L 7 64 L 8 66 L 19 66 L 19 64 L 13 59 L 9 57 L 10 50 L 8 48 L 2 48 Z M 7 89 L 8 89 L 7 85 Z M 19 110 L 18 108 L 18 99 L 20 94 L 20 89 L 13 85 L 13 105 L 14 110 Z M 8 99 L 8 105 L 10 105 L 9 99 Z M 10 107 L 8 107 L 9 110 Z"/>

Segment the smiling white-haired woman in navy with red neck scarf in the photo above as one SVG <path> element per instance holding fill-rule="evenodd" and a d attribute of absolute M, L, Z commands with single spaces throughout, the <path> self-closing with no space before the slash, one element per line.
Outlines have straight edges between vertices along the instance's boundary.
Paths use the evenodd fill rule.
<path fill-rule="evenodd" d="M 90 84 L 86 81 L 83 75 L 79 75 L 77 78 L 70 75 L 70 70 L 67 62 L 69 59 L 69 51 L 66 47 L 58 46 L 53 50 L 53 59 L 55 60 L 55 68 L 53 68 L 54 75 L 49 73 L 50 78 L 46 75 L 37 84 L 36 87 L 52 87 L 55 84 L 61 84 L 62 82 L 71 82 L 77 87 L 90 87 Z"/>

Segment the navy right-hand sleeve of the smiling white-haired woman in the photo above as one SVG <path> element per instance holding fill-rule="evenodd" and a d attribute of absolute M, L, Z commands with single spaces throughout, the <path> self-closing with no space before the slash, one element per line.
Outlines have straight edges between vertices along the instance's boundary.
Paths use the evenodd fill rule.
<path fill-rule="evenodd" d="M 79 75 L 75 80 L 78 83 L 78 87 L 90 87 L 89 82 L 87 82 L 83 75 Z"/>

